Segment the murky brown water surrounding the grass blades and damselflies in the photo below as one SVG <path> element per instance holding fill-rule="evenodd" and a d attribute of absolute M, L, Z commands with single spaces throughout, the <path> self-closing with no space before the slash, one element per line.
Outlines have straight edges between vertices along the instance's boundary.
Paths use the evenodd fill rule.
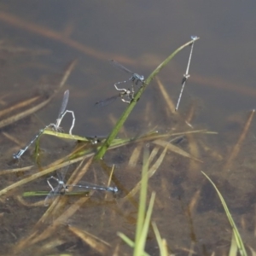
<path fill-rule="evenodd" d="M 106 136 L 125 110 L 125 103 L 117 99 L 105 108 L 95 108 L 94 103 L 115 95 L 113 84 L 129 78 L 109 65 L 108 60 L 116 59 L 147 77 L 167 55 L 195 34 L 201 39 L 195 43 L 190 78 L 178 113 L 170 113 L 154 80 L 125 122 L 119 137 L 136 137 L 155 130 L 160 133 L 218 131 L 218 135 L 199 132 L 174 141 L 174 145 L 203 162 L 167 151 L 160 168 L 149 181 L 148 192 L 156 191 L 152 219 L 172 253 L 188 255 L 192 248 L 198 255 L 212 252 L 227 255 L 230 224 L 212 185 L 201 174 L 204 171 L 223 194 L 246 246 L 256 250 L 254 119 L 245 131 L 246 136 L 239 141 L 250 111 L 255 108 L 256 56 L 252 32 L 256 22 L 255 3 L 71 3 L 62 0 L 54 3 L 12 1 L 8 5 L 2 1 L 0 6 L 1 109 L 32 96 L 39 96 L 41 101 L 48 99 L 60 83 L 68 63 L 74 59 L 79 61 L 63 89 L 44 108 L 1 128 L 0 172 L 20 166 L 34 167 L 19 175 L 2 175 L 0 189 L 39 172 L 38 166 L 59 160 L 76 147 L 76 143 L 44 136 L 40 140 L 43 154 L 38 164 L 30 156 L 32 148 L 19 163 L 12 160 L 12 154 L 38 129 L 57 118 L 64 90 L 70 90 L 68 109 L 76 116 L 73 134 Z M 160 80 L 174 103 L 188 57 L 189 48 L 176 55 L 160 73 Z M 32 106 L 35 105 L 34 102 Z M 17 108 L 15 113 L 21 109 Z M 189 113 L 193 113 L 190 119 L 193 129 L 184 122 L 189 119 Z M 70 117 L 63 120 L 66 131 L 70 121 Z M 152 166 L 163 148 L 151 140 L 147 143 L 150 152 L 158 150 Z M 38 220 L 46 207 L 25 205 L 44 201 L 44 197 L 26 199 L 22 203 L 17 195 L 24 191 L 49 190 L 45 177 L 2 195 L 1 255 L 131 254 L 131 249 L 116 234 L 123 232 L 134 239 L 138 195 L 126 201 L 123 198 L 140 180 L 143 154 L 138 150 L 140 155 L 135 166 L 130 160 L 134 148 L 140 145 L 143 144 L 115 148 L 104 158 L 106 165 L 115 165 L 112 185 L 119 188 L 118 195 L 107 193 L 106 197 L 106 193 L 96 192 L 90 198 L 63 196 L 62 207 L 49 214 L 44 223 Z M 106 184 L 109 174 L 106 169 L 93 163 L 86 180 Z M 78 201 L 81 206 L 68 217 L 65 211 L 76 206 Z M 59 219 L 57 224 L 56 219 Z M 98 244 L 93 247 L 89 241 L 82 241 L 72 230 L 74 228 L 107 241 L 110 247 L 101 248 Z M 34 232 L 36 235 L 32 236 Z M 146 251 L 150 255 L 159 254 L 153 230 L 149 230 Z"/>

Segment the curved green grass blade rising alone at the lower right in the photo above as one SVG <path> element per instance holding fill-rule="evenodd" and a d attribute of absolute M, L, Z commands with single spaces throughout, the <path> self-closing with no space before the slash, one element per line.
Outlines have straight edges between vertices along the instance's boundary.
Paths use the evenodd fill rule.
<path fill-rule="evenodd" d="M 202 171 L 201 171 L 202 172 Z M 214 189 L 217 191 L 218 193 L 218 197 L 224 207 L 224 211 L 226 212 L 226 215 L 227 217 L 229 218 L 229 221 L 230 221 L 230 225 L 232 227 L 232 230 L 233 230 L 233 233 L 234 233 L 234 236 L 236 238 L 236 245 L 238 247 L 238 250 L 239 250 L 239 253 L 241 254 L 241 256 L 247 256 L 247 252 L 245 250 L 245 247 L 244 247 L 244 244 L 243 244 L 243 241 L 241 240 L 241 236 L 239 234 L 239 231 L 237 230 L 236 228 L 236 224 L 230 214 L 230 210 L 229 208 L 227 207 L 225 201 L 224 201 L 224 198 L 223 196 L 220 194 L 220 192 L 218 191 L 216 185 L 212 182 L 211 178 L 207 176 L 207 174 L 205 172 L 202 172 L 202 174 L 207 177 L 207 179 L 210 181 L 210 183 L 212 183 L 212 186 L 214 187 Z"/>

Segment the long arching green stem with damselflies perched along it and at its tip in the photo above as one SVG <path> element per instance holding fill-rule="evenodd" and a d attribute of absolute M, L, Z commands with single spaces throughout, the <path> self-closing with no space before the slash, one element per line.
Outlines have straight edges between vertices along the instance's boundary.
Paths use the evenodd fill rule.
<path fill-rule="evenodd" d="M 199 38 L 197 38 L 199 39 Z M 197 40 L 196 39 L 196 40 Z M 181 51 L 186 46 L 189 46 L 189 44 L 192 44 L 195 42 L 194 40 L 189 41 L 187 44 L 183 44 L 181 47 L 176 49 L 171 55 L 169 55 L 165 61 L 163 61 L 158 67 L 154 69 L 154 71 L 148 76 L 148 79 L 145 80 L 143 83 L 143 86 L 137 91 L 137 94 L 134 96 L 134 99 L 131 101 L 131 103 L 128 105 L 128 107 L 125 109 L 124 113 L 122 113 L 121 117 L 119 118 L 118 122 L 116 123 L 115 127 L 113 128 L 113 131 L 109 134 L 107 140 L 105 143 L 102 144 L 102 148 L 97 152 L 95 159 L 101 160 L 104 154 L 106 153 L 107 149 L 111 145 L 113 139 L 117 136 L 120 128 L 124 125 L 125 120 L 128 118 L 129 114 L 131 113 L 132 109 L 136 106 L 137 101 L 140 99 L 140 97 L 143 95 L 143 91 L 146 90 L 148 84 L 154 79 L 154 77 L 160 73 L 160 70 L 165 67 L 169 61 L 172 60 L 172 58 L 177 55 L 179 51 Z"/>

